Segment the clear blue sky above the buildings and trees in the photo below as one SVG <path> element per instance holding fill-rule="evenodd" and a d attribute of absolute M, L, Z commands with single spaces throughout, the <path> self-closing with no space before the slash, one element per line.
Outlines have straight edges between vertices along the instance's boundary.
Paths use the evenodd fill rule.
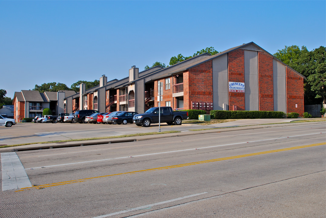
<path fill-rule="evenodd" d="M 1 1 L 0 89 L 128 76 L 206 47 L 325 46 L 326 1 Z"/>

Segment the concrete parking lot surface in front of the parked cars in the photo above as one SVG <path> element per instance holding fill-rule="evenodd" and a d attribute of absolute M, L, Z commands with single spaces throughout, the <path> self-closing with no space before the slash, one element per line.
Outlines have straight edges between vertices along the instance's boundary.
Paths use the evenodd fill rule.
<path fill-rule="evenodd" d="M 193 124 L 182 124 L 179 126 L 161 124 L 161 131 L 185 131 L 191 125 Z M 135 124 L 18 123 L 10 128 L 1 126 L 0 145 L 158 132 L 158 128 L 158 124 L 142 127 Z M 202 128 L 202 126 L 198 126 L 198 128 Z"/>

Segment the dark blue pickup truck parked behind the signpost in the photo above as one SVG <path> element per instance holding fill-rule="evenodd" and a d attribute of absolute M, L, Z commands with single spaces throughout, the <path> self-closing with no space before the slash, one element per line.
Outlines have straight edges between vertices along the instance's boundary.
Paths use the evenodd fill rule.
<path fill-rule="evenodd" d="M 158 107 L 150 108 L 145 113 L 136 114 L 133 117 L 133 123 L 137 126 L 148 127 L 151 124 L 159 123 Z M 171 107 L 161 107 L 160 110 L 161 123 L 181 125 L 182 120 L 188 119 L 187 111 L 173 111 Z"/>

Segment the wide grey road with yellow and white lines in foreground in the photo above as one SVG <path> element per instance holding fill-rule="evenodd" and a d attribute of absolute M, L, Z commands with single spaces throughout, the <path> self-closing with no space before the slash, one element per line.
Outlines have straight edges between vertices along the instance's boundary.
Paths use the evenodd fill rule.
<path fill-rule="evenodd" d="M 1 191 L 0 214 L 325 217 L 325 141 L 305 123 L 16 152 L 33 186 Z"/>

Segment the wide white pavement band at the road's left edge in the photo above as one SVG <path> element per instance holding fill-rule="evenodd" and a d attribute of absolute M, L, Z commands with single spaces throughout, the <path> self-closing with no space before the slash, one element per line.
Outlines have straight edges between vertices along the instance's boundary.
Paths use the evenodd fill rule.
<path fill-rule="evenodd" d="M 1 153 L 1 171 L 2 191 L 32 186 L 16 152 Z"/>

